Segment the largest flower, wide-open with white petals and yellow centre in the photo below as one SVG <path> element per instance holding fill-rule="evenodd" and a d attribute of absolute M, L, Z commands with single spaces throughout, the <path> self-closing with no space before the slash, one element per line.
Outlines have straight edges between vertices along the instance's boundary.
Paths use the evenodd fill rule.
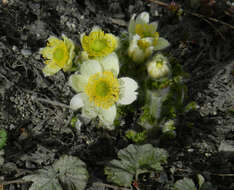
<path fill-rule="evenodd" d="M 128 77 L 118 79 L 118 74 L 115 53 L 83 62 L 80 74 L 69 79 L 69 85 L 78 93 L 71 99 L 70 107 L 82 108 L 82 115 L 90 119 L 98 116 L 110 128 L 116 117 L 116 104 L 131 104 L 137 98 L 137 83 Z"/>

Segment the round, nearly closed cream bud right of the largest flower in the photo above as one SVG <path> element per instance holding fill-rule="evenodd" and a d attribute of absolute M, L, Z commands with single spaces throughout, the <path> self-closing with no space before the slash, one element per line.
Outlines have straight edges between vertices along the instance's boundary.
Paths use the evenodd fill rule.
<path fill-rule="evenodd" d="M 153 79 L 159 79 L 170 75 L 168 59 L 161 53 L 156 54 L 147 64 L 147 71 Z"/>

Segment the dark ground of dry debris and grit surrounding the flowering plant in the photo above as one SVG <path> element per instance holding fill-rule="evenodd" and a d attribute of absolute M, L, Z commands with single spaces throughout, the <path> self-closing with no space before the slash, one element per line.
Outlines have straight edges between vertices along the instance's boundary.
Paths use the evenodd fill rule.
<path fill-rule="evenodd" d="M 158 144 L 170 155 L 164 181 L 146 176 L 141 189 L 167 189 L 166 183 L 195 179 L 197 174 L 218 190 L 234 189 L 233 1 L 211 5 L 202 1 L 198 8 L 189 1 L 176 2 L 184 9 L 180 18 L 148 0 L 1 1 L 0 128 L 7 130 L 8 140 L 0 182 L 20 179 L 68 154 L 87 164 L 88 188 L 95 181 L 107 183 L 103 165 L 130 143 L 124 137 L 128 125 L 110 132 L 85 123 L 80 130 L 72 128 L 74 113 L 67 105 L 74 92 L 67 84 L 69 75 L 44 77 L 38 50 L 50 35 L 65 34 L 79 43 L 79 35 L 95 25 L 118 35 L 133 13 L 148 11 L 151 20 L 160 21 L 160 35 L 171 43 L 166 51 L 190 74 L 189 99 L 199 108 L 180 118 L 175 139 Z M 12 183 L 4 189 L 29 186 Z"/>

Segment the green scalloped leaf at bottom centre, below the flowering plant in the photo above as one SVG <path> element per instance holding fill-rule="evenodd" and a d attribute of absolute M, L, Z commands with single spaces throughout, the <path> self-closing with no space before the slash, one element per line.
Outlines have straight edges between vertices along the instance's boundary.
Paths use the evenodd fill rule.
<path fill-rule="evenodd" d="M 162 171 L 161 164 L 167 162 L 167 157 L 164 149 L 154 148 L 151 144 L 131 144 L 118 152 L 120 160 L 112 160 L 110 165 L 105 167 L 105 174 L 108 181 L 130 187 L 134 176 Z"/>

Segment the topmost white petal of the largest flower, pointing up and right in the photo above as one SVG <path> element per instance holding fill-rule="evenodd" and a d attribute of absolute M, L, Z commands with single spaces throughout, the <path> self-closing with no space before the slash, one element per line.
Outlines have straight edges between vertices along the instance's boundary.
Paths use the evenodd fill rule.
<path fill-rule="evenodd" d="M 104 71 L 111 71 L 115 77 L 119 74 L 119 59 L 116 53 L 111 53 L 108 56 L 99 60 Z"/>

